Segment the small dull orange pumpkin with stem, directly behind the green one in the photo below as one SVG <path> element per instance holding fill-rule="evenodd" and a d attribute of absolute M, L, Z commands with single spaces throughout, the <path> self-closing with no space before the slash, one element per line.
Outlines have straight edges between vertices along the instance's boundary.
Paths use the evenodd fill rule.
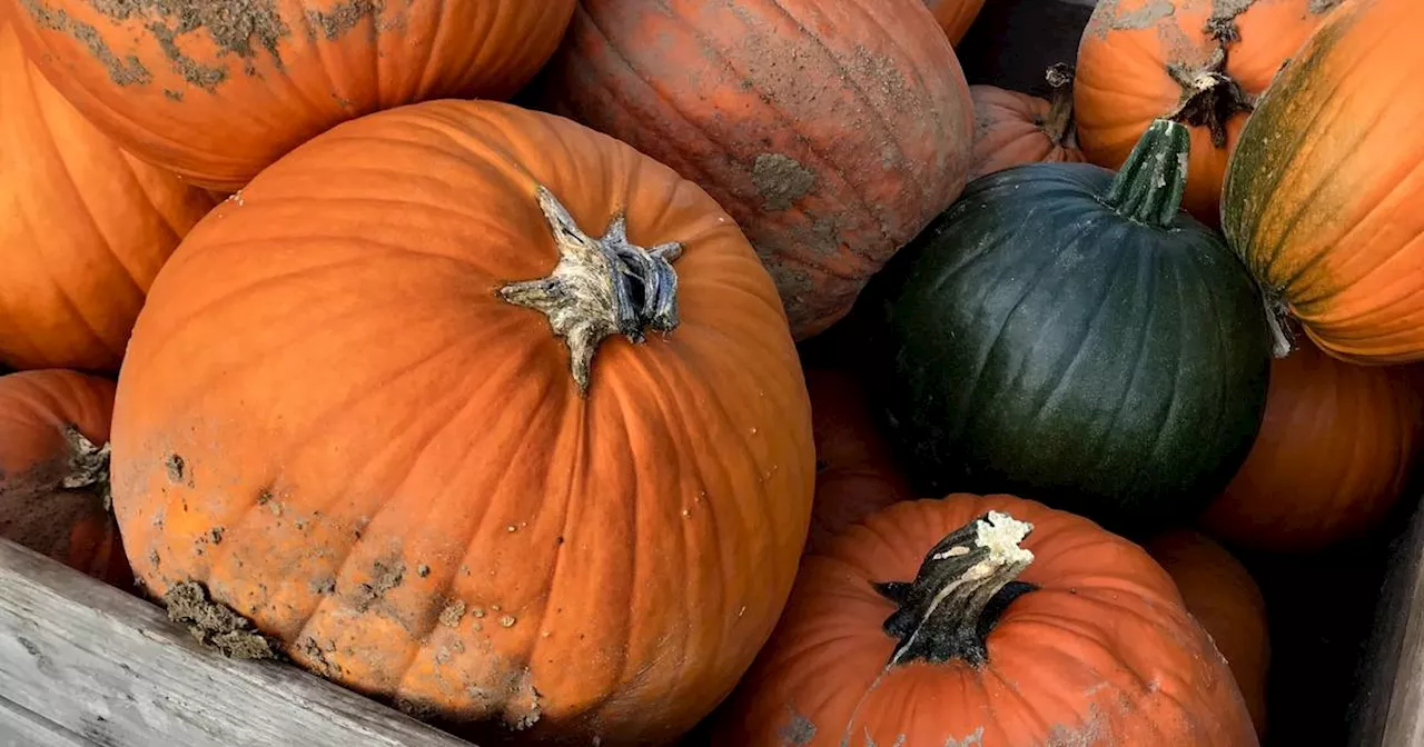
<path fill-rule="evenodd" d="M 1052 102 L 993 85 L 970 85 L 974 154 L 970 179 L 1024 164 L 1082 162 L 1072 124 L 1072 68 L 1048 70 Z"/>

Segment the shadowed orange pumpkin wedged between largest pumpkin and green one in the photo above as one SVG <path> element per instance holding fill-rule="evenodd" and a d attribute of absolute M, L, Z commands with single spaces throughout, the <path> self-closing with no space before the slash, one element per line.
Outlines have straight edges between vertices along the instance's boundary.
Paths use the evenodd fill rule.
<path fill-rule="evenodd" d="M 806 549 L 816 552 L 846 526 L 911 492 L 856 377 L 807 369 L 806 391 L 816 443 L 816 501 Z"/>

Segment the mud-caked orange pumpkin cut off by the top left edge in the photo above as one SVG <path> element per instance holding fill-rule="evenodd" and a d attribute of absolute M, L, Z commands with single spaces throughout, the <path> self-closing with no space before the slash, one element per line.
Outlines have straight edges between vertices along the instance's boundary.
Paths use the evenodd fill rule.
<path fill-rule="evenodd" d="M 231 192 L 345 120 L 514 94 L 554 53 L 574 0 L 4 4 L 36 64 L 100 129 Z"/>

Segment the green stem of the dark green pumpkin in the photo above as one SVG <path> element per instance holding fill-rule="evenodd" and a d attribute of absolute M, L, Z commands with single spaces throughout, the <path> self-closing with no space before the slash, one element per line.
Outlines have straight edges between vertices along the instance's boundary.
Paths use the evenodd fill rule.
<path fill-rule="evenodd" d="M 1124 218 L 1168 228 L 1182 209 L 1190 149 L 1192 135 L 1185 127 L 1156 120 L 1132 148 L 1104 202 Z"/>

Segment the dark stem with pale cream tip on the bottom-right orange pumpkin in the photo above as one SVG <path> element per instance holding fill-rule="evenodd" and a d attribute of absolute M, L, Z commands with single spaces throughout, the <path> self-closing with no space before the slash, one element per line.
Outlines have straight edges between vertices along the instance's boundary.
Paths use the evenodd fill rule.
<path fill-rule="evenodd" d="M 1015 581 L 1034 561 L 1018 546 L 1032 531 L 1028 522 L 990 511 L 934 545 L 913 582 L 877 583 L 881 596 L 900 605 L 884 622 L 884 632 L 899 640 L 890 666 L 987 662 L 984 640 L 998 616 L 1035 589 Z"/>

